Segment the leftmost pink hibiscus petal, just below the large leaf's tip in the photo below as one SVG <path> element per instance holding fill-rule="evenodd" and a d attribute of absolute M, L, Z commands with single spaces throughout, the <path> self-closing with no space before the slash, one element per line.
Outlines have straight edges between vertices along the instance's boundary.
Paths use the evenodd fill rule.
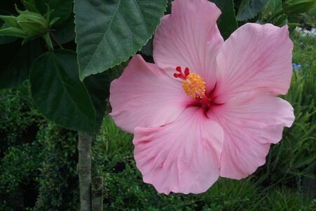
<path fill-rule="evenodd" d="M 110 86 L 114 122 L 126 132 L 135 127 L 159 127 L 175 120 L 192 102 L 181 83 L 140 55 L 134 56 Z"/>

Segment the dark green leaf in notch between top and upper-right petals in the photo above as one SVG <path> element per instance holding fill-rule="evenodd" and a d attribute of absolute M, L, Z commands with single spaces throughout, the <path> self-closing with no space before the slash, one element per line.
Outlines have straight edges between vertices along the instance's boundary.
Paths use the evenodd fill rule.
<path fill-rule="evenodd" d="M 222 14 L 217 20 L 218 29 L 224 39 L 228 39 L 230 34 L 237 30 L 237 20 L 235 16 L 234 1 L 232 0 L 211 0 L 220 8 Z"/>

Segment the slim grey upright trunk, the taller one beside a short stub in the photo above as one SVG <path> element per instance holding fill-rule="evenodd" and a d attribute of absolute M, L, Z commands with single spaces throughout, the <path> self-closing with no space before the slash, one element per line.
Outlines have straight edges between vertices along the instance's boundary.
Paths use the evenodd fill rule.
<path fill-rule="evenodd" d="M 80 211 L 91 211 L 91 135 L 79 132 L 78 174 Z"/>

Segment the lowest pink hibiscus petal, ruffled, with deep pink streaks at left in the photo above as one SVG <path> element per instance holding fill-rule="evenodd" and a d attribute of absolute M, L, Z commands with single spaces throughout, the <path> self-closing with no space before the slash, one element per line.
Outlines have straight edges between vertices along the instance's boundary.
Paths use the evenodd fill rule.
<path fill-rule="evenodd" d="M 223 130 L 202 108 L 162 127 L 136 127 L 133 143 L 143 180 L 159 193 L 202 193 L 218 179 Z"/>

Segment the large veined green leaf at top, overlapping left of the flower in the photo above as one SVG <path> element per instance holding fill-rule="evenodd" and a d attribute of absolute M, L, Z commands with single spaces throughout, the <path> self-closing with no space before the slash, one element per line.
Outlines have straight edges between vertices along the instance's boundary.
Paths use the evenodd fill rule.
<path fill-rule="evenodd" d="M 127 60 L 147 43 L 166 0 L 74 1 L 80 79 Z"/>

